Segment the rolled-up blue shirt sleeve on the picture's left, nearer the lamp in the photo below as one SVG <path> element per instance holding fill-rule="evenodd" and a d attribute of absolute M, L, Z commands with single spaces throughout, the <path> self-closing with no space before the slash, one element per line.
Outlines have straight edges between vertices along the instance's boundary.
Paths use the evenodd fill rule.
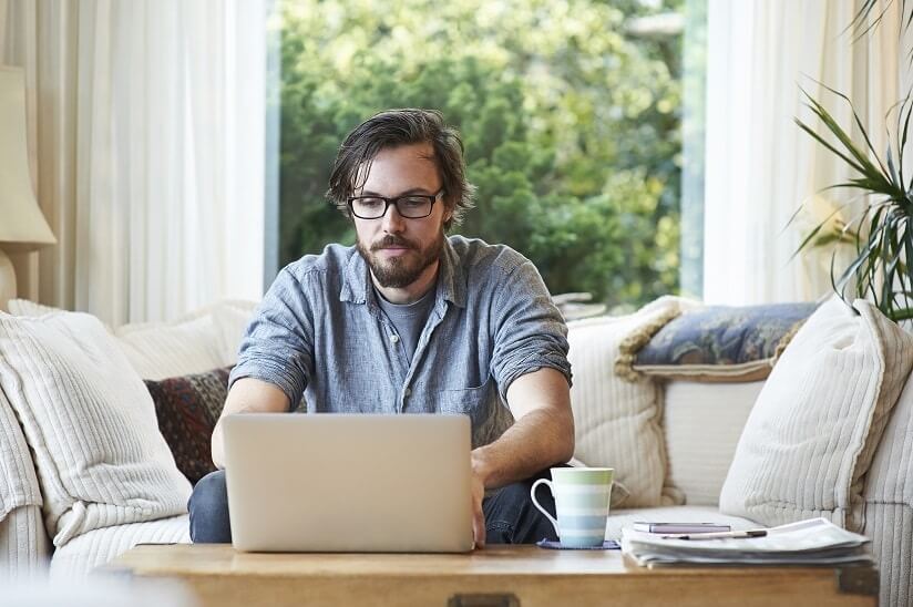
<path fill-rule="evenodd" d="M 314 317 L 304 287 L 288 268 L 276 277 L 247 326 L 229 388 L 254 378 L 285 392 L 293 410 L 301 400 L 314 368 Z"/>

